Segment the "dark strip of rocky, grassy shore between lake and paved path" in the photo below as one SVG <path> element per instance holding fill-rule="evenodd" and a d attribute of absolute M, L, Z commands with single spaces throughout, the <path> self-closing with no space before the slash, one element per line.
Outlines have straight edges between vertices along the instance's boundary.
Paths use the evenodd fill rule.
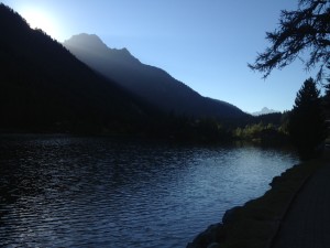
<path fill-rule="evenodd" d="M 243 206 L 228 209 L 221 223 L 210 225 L 186 248 L 270 248 L 292 202 L 314 173 L 329 160 L 329 149 L 315 160 L 301 162 L 275 176 L 271 188 Z"/>

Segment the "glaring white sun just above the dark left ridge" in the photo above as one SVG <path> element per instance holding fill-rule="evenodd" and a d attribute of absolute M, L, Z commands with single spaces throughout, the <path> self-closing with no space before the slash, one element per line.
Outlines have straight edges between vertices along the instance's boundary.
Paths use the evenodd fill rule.
<path fill-rule="evenodd" d="M 55 19 L 50 13 L 40 9 L 26 8 L 21 11 L 21 14 L 32 29 L 41 29 L 53 39 L 59 39 L 61 33 L 58 25 L 56 24 Z"/>

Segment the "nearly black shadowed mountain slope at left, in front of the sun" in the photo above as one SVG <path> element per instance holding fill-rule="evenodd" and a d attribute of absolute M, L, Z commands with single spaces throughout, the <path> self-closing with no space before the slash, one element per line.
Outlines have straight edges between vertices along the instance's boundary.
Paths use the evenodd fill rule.
<path fill-rule="evenodd" d="M 147 105 L 0 3 L 0 130 L 139 129 Z"/>

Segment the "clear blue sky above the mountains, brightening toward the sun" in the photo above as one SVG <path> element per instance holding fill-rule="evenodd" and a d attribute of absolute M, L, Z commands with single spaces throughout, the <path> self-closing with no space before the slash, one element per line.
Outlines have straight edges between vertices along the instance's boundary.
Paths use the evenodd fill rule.
<path fill-rule="evenodd" d="M 3 0 L 32 28 L 58 42 L 97 34 L 109 47 L 127 47 L 142 63 L 157 66 L 202 96 L 246 112 L 293 108 L 305 79 L 301 62 L 273 71 L 266 79 L 252 72 L 270 43 L 280 10 L 298 0 Z"/>

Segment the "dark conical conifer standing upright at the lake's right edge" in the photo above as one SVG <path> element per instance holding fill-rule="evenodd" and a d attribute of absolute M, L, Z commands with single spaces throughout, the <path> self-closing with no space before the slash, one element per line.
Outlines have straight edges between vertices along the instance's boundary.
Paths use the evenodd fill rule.
<path fill-rule="evenodd" d="M 289 116 L 289 134 L 304 159 L 317 154 L 326 139 L 327 128 L 321 107 L 320 90 L 312 78 L 305 80 L 297 93 L 295 106 Z"/>

